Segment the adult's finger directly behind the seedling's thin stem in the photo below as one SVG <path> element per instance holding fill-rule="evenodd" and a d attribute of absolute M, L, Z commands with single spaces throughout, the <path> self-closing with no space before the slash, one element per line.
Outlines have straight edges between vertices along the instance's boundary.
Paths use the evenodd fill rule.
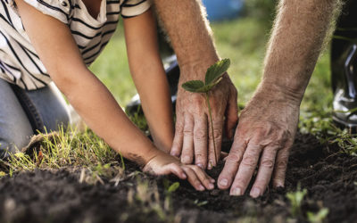
<path fill-rule="evenodd" d="M 209 145 L 208 145 L 208 169 L 212 169 L 217 165 L 220 159 L 220 146 L 222 145 L 222 128 L 223 120 L 217 118 L 213 120 L 213 135 L 212 126 L 209 125 Z M 214 140 L 213 140 L 214 137 Z"/>

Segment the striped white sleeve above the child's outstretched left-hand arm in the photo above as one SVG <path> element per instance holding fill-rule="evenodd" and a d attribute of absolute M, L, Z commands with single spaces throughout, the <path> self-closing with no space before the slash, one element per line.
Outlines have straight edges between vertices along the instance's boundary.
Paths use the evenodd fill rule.
<path fill-rule="evenodd" d="M 73 0 L 24 0 L 38 11 L 68 24 L 71 16 Z"/>

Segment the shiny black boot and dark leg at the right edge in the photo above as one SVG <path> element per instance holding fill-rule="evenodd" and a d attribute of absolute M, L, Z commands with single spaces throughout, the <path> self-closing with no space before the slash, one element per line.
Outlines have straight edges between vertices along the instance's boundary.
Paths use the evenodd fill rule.
<path fill-rule="evenodd" d="M 357 130 L 357 1 L 345 2 L 331 43 L 333 120 L 337 126 Z"/>

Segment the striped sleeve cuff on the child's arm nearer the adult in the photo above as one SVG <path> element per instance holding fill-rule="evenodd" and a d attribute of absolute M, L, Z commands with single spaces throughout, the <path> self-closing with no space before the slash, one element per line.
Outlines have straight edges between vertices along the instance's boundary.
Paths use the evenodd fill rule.
<path fill-rule="evenodd" d="M 120 5 L 121 16 L 130 18 L 146 12 L 152 2 L 151 0 L 124 0 Z"/>

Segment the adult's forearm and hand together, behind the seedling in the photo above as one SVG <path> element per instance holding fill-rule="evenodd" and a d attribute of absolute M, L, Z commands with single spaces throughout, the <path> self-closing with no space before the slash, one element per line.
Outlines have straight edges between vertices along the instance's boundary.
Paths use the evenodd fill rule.
<path fill-rule="evenodd" d="M 184 163 L 194 162 L 203 169 L 211 169 L 216 161 L 205 96 L 189 93 L 181 85 L 188 80 L 203 80 L 207 68 L 219 61 L 212 30 L 204 17 L 201 1 L 154 0 L 154 5 L 170 37 L 180 69 L 176 132 L 170 153 L 181 157 Z M 218 160 L 224 122 L 229 129 L 237 122 L 237 90 L 228 75 L 212 89 L 210 98 Z M 230 130 L 229 135 L 232 135 Z"/>

